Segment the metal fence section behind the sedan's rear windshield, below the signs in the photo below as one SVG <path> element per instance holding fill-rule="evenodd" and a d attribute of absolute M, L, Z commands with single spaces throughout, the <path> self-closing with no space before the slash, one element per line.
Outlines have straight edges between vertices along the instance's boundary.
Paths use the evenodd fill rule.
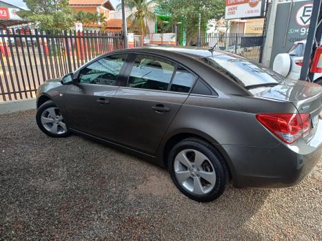
<path fill-rule="evenodd" d="M 199 43 L 204 48 L 225 50 L 238 54 L 252 61 L 261 61 L 263 34 L 212 33 L 201 36 Z"/>

